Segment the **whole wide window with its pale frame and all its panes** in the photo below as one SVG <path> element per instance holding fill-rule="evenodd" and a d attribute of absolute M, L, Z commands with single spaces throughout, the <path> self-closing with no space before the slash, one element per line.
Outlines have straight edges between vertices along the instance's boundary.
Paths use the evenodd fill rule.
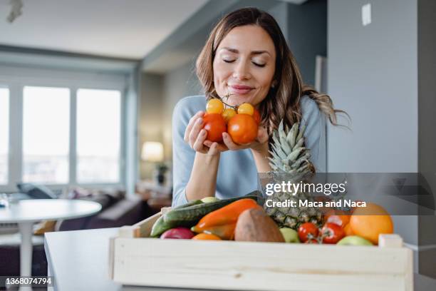
<path fill-rule="evenodd" d="M 1 65 L 0 193 L 22 182 L 133 193 L 134 73 Z"/>

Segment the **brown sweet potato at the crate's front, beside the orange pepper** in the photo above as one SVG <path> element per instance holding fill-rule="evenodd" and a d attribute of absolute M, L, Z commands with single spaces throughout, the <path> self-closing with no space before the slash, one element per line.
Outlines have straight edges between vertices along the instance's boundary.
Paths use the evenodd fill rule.
<path fill-rule="evenodd" d="M 234 240 L 246 242 L 284 242 L 279 227 L 264 210 L 253 208 L 239 215 Z"/>

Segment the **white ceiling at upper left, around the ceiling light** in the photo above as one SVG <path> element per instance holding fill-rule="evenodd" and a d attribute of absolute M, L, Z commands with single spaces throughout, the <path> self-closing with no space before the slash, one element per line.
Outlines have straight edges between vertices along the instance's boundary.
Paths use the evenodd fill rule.
<path fill-rule="evenodd" d="M 6 21 L 0 1 L 0 45 L 140 59 L 207 0 L 23 0 Z"/>

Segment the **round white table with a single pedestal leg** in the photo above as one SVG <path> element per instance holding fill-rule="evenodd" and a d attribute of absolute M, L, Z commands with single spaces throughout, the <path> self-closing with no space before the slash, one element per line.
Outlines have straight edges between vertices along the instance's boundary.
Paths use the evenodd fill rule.
<path fill-rule="evenodd" d="M 21 233 L 20 275 L 31 276 L 33 223 L 41 220 L 81 218 L 101 210 L 101 205 L 86 200 L 31 199 L 0 208 L 0 223 L 18 223 Z"/>

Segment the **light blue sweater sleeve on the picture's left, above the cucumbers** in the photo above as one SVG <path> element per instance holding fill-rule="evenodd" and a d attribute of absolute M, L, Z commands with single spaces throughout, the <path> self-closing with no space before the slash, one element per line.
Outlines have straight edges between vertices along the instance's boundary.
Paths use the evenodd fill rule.
<path fill-rule="evenodd" d="M 172 113 L 172 207 L 188 202 L 185 188 L 195 158 L 195 151 L 183 139 L 187 124 L 195 113 L 189 103 L 189 98 L 180 100 Z"/>

